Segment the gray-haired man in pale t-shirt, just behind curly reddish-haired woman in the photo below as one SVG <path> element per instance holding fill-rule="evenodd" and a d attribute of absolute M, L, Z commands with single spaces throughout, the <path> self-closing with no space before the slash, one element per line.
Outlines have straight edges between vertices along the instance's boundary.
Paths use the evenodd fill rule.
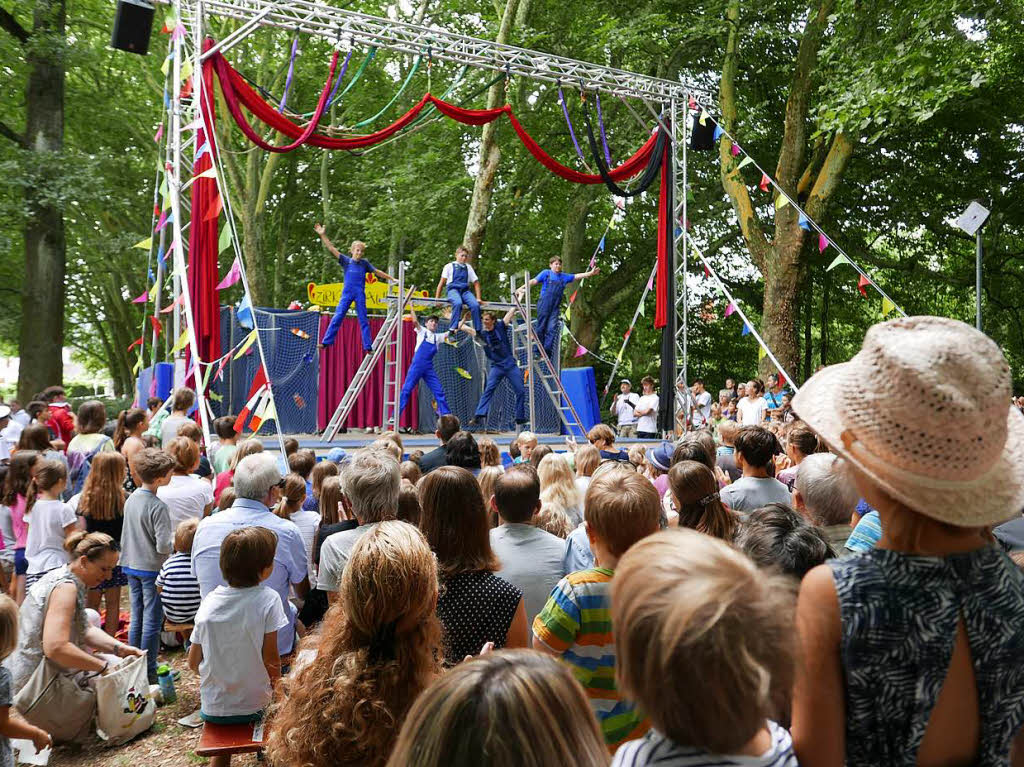
<path fill-rule="evenodd" d="M 327 592 L 331 604 L 338 599 L 341 576 L 355 542 L 380 522 L 395 518 L 400 487 L 398 462 L 383 451 L 360 451 L 349 463 L 345 495 L 359 526 L 328 537 L 321 549 L 316 587 Z"/>

